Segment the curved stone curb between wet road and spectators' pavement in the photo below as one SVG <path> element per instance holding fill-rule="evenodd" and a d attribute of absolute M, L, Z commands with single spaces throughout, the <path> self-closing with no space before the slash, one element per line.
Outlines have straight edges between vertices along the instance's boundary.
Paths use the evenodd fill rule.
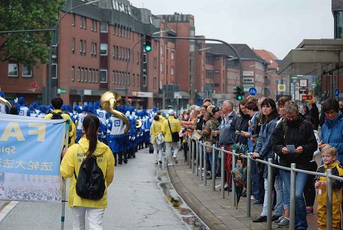
<path fill-rule="evenodd" d="M 209 209 L 207 209 L 196 196 L 194 196 L 187 187 L 182 183 L 178 177 L 174 166 L 167 166 L 169 179 L 173 184 L 176 192 L 182 197 L 189 207 L 196 213 L 196 215 L 213 230 L 230 230 L 224 223 L 214 216 Z"/>

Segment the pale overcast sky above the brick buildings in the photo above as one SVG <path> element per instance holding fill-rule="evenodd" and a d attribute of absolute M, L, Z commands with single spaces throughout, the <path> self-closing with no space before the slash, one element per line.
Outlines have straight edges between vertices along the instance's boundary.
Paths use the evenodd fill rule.
<path fill-rule="evenodd" d="M 283 59 L 304 38 L 333 38 L 331 0 L 129 0 L 152 14 L 193 14 L 196 35 Z"/>

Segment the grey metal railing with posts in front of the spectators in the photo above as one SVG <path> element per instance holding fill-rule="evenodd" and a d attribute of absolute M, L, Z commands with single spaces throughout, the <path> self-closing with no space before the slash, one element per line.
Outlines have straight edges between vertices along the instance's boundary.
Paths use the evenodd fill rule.
<path fill-rule="evenodd" d="M 232 154 L 233 161 L 232 161 L 232 168 L 236 167 L 236 161 L 239 154 L 236 154 L 235 151 L 229 152 L 224 150 L 224 147 L 217 148 L 215 145 L 209 146 L 206 145 L 206 143 L 203 143 L 202 141 L 196 141 L 191 138 L 188 140 L 188 156 L 187 156 L 187 163 L 189 164 L 189 168 L 192 169 L 193 174 L 196 174 L 200 177 L 201 181 L 204 181 L 204 185 L 207 185 L 206 180 L 206 159 L 207 159 L 207 152 L 206 147 L 212 148 L 212 165 L 213 168 L 215 168 L 216 165 L 216 158 L 215 158 L 215 151 L 218 151 L 221 156 L 221 193 L 222 198 L 225 198 L 225 192 L 224 192 L 224 155 L 225 154 Z M 291 174 L 291 180 L 290 180 L 290 203 L 289 203 L 289 229 L 294 230 L 295 229 L 295 211 L 296 211 L 296 173 L 302 172 L 306 174 L 311 174 L 315 176 L 325 176 L 327 177 L 327 230 L 332 230 L 332 180 L 338 180 L 343 181 L 343 178 L 340 176 L 333 176 L 332 170 L 327 170 L 327 174 L 319 173 L 319 172 L 311 172 L 307 170 L 300 170 L 296 168 L 296 164 L 292 163 L 291 168 L 283 167 L 281 165 L 276 165 L 272 163 L 273 159 L 268 159 L 267 161 L 263 161 L 260 159 L 252 159 L 250 157 L 252 153 L 248 153 L 248 156 L 246 155 L 240 155 L 240 157 L 247 159 L 247 165 L 246 165 L 246 180 L 247 180 L 247 187 L 246 187 L 246 198 L 247 198 L 247 205 L 246 205 L 246 216 L 250 217 L 251 213 L 251 163 L 252 161 L 257 161 L 259 163 L 263 163 L 268 167 L 268 215 L 267 215 L 267 227 L 268 229 L 272 229 L 272 176 L 273 176 L 273 170 L 272 168 L 279 168 L 281 170 L 287 170 L 290 171 Z M 204 173 L 203 173 L 204 169 Z M 212 171 L 212 189 L 215 191 L 215 173 Z M 235 185 L 234 183 L 231 183 L 232 185 L 232 192 L 233 194 L 232 203 L 233 205 L 236 205 L 236 193 L 235 193 Z"/>

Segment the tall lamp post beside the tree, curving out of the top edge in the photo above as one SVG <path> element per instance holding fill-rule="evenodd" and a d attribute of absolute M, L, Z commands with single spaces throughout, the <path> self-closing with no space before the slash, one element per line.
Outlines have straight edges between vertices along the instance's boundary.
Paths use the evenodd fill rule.
<path fill-rule="evenodd" d="M 52 91 L 51 91 L 51 70 L 52 70 L 52 47 L 54 45 L 54 41 L 55 41 L 55 36 L 56 36 L 56 32 L 58 31 L 58 25 L 60 25 L 60 22 L 62 21 L 62 19 L 64 19 L 64 16 L 66 16 L 67 14 L 69 14 L 72 10 L 75 10 L 76 8 L 80 8 L 84 5 L 90 5 L 92 3 L 96 3 L 98 1 L 102 1 L 102 0 L 95 0 L 95 1 L 89 1 L 87 3 L 81 4 L 81 5 L 76 5 L 75 7 L 71 8 L 70 10 L 68 10 L 67 12 L 65 12 L 60 19 L 58 19 L 58 22 L 56 23 L 56 25 L 53 28 L 53 34 L 51 36 L 51 42 L 50 42 L 50 49 L 49 49 L 49 74 L 48 74 L 48 78 L 47 78 L 47 103 L 49 104 L 51 101 L 51 97 L 52 97 Z M 58 39 L 56 41 L 56 43 L 58 43 Z"/>

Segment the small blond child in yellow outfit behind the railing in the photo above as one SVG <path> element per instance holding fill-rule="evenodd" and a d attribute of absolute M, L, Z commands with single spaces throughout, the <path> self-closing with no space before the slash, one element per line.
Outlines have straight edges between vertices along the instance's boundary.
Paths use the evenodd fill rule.
<path fill-rule="evenodd" d="M 332 170 L 334 176 L 343 176 L 343 169 L 340 161 L 337 161 L 337 150 L 332 146 L 325 146 L 320 151 L 322 154 L 322 162 L 324 163 L 317 172 L 327 173 L 327 170 Z M 341 229 L 340 205 L 342 203 L 342 181 L 332 180 L 332 229 Z M 319 176 L 314 184 L 318 189 L 318 229 L 327 229 L 327 178 Z"/>

